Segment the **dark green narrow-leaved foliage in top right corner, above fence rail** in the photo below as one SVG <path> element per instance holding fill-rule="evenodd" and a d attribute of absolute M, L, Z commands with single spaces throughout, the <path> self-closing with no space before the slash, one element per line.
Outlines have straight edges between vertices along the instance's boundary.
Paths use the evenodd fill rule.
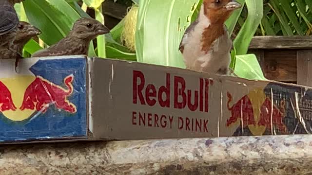
<path fill-rule="evenodd" d="M 264 0 L 263 18 L 255 35 L 311 35 L 312 0 Z M 234 34 L 248 16 L 246 7 L 238 19 Z"/>

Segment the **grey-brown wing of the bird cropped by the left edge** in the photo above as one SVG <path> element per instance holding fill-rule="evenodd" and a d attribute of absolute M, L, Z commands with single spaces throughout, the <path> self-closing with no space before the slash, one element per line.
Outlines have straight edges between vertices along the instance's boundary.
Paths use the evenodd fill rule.
<path fill-rule="evenodd" d="M 0 35 L 4 35 L 19 24 L 17 13 L 10 4 L 0 4 Z"/>

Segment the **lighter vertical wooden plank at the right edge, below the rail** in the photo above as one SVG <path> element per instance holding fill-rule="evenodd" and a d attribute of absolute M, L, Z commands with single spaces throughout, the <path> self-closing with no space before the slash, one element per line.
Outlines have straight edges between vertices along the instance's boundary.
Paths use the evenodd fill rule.
<path fill-rule="evenodd" d="M 297 84 L 312 87 L 312 50 L 297 52 Z"/>

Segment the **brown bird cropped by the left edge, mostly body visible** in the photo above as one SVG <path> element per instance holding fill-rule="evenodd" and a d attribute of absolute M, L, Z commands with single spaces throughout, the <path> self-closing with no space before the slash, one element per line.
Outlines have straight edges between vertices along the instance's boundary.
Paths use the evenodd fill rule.
<path fill-rule="evenodd" d="M 14 4 L 23 0 L 0 0 L 0 50 L 10 49 L 13 44 L 19 18 Z"/>

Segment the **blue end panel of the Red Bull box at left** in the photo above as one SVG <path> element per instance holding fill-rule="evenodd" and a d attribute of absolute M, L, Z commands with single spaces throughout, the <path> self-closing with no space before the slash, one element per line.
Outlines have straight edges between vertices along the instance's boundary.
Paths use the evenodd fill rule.
<path fill-rule="evenodd" d="M 0 60 L 0 142 L 87 138 L 85 57 Z"/>

